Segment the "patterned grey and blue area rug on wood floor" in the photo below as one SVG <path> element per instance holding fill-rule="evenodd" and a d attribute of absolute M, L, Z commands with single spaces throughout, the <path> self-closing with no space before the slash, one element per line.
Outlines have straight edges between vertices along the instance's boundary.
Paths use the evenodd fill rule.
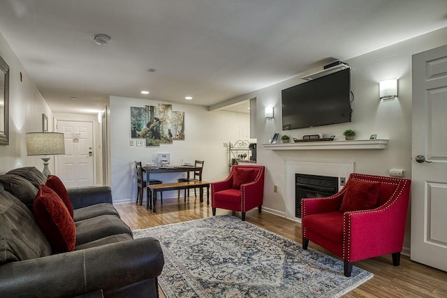
<path fill-rule="evenodd" d="M 235 216 L 133 231 L 159 239 L 166 297 L 340 297 L 373 274 Z"/>

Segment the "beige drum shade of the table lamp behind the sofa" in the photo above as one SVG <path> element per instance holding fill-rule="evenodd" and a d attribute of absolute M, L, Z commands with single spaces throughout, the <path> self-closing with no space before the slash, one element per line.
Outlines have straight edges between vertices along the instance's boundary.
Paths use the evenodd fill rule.
<path fill-rule="evenodd" d="M 65 154 L 64 133 L 27 133 L 27 155 Z"/>

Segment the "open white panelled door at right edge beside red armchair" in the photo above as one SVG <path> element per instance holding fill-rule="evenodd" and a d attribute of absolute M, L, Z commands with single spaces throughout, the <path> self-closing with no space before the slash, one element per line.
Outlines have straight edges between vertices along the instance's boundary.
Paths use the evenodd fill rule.
<path fill-rule="evenodd" d="M 412 110 L 411 260 L 447 271 L 447 45 L 413 55 Z"/>

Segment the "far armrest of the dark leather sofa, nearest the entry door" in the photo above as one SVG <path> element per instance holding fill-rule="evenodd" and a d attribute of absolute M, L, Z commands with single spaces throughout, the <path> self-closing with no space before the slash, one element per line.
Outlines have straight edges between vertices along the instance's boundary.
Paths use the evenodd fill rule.
<path fill-rule="evenodd" d="M 101 203 L 112 204 L 112 190 L 109 186 L 68 188 L 67 192 L 73 209 Z"/>

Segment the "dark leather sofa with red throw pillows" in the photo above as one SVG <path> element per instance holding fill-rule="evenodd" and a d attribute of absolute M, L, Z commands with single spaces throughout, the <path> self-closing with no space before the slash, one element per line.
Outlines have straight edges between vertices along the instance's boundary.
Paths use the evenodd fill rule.
<path fill-rule="evenodd" d="M 32 214 L 45 180 L 35 167 L 0 175 L 0 297 L 159 297 L 159 241 L 132 238 L 109 187 L 68 190 L 75 250 L 52 253 Z"/>

